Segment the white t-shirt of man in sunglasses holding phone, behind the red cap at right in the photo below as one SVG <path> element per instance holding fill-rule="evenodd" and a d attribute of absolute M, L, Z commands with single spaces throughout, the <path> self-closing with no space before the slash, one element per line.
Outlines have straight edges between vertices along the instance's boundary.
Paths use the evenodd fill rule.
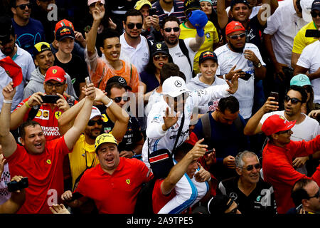
<path fill-rule="evenodd" d="M 260 120 L 260 123 L 263 124 L 265 122 L 265 120 L 267 120 L 268 117 L 270 117 L 271 115 L 274 115 L 274 114 L 282 115 L 285 118 L 284 110 L 275 111 L 275 112 L 270 112 L 270 113 L 266 113 L 265 115 L 263 115 Z M 303 113 L 303 115 L 305 115 L 305 114 Z M 310 140 L 316 138 L 316 135 L 320 134 L 320 125 L 319 125 L 318 121 L 316 121 L 313 118 L 309 118 L 308 115 L 305 115 L 304 121 L 302 121 L 302 123 L 295 124 L 291 130 L 293 132 L 291 135 L 292 141 L 302 141 L 302 140 L 310 141 Z M 298 168 L 297 171 L 301 172 L 304 175 L 307 175 L 305 165 Z"/>

